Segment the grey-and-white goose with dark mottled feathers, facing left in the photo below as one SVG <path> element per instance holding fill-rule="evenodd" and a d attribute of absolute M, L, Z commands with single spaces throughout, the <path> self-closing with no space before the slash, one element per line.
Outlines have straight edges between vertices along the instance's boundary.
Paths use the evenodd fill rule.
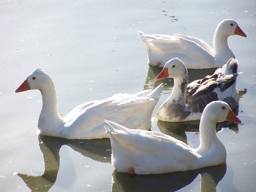
<path fill-rule="evenodd" d="M 236 90 L 238 60 L 230 58 L 213 75 L 188 84 L 188 71 L 182 60 L 169 60 L 155 80 L 174 78 L 170 97 L 161 104 L 157 119 L 167 122 L 199 120 L 204 107 L 212 101 L 225 101 L 232 109 L 237 107 L 239 97 Z"/>

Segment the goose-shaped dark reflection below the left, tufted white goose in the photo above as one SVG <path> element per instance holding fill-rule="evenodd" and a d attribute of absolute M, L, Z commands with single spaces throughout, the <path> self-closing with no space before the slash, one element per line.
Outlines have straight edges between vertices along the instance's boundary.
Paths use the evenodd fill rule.
<path fill-rule="evenodd" d="M 19 173 L 31 191 L 49 191 L 55 183 L 59 171 L 59 151 L 62 145 L 67 145 L 83 156 L 95 161 L 111 162 L 111 144 L 109 138 L 103 139 L 65 139 L 39 134 L 39 146 L 44 157 L 44 174 L 31 176 Z"/>

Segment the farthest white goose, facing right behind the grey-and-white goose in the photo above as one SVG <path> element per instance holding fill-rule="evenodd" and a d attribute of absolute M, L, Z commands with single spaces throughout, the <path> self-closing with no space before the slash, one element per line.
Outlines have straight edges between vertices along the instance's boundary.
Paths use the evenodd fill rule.
<path fill-rule="evenodd" d="M 137 31 L 147 49 L 148 64 L 163 67 L 172 58 L 180 58 L 187 69 L 222 67 L 229 58 L 235 58 L 228 46 L 230 35 L 246 34 L 232 19 L 221 21 L 213 36 L 213 48 L 205 41 L 182 34 L 145 34 Z"/>

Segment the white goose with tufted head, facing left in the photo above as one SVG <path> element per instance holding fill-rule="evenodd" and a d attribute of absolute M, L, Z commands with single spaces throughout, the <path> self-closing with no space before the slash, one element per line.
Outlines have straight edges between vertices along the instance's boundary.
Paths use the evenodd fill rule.
<path fill-rule="evenodd" d="M 42 109 L 38 119 L 40 134 L 67 139 L 109 138 L 105 133 L 105 118 L 135 129 L 151 129 L 152 113 L 163 85 L 136 94 L 117 93 L 112 97 L 89 101 L 72 109 L 64 118 L 58 113 L 57 93 L 53 79 L 42 69 L 31 72 L 16 89 L 17 92 L 38 89 L 42 94 Z M 143 96 L 142 94 L 146 94 Z"/>

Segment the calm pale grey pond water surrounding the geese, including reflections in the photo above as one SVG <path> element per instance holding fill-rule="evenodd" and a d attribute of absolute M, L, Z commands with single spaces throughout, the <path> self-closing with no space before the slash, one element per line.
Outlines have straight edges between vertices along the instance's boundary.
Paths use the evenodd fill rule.
<path fill-rule="evenodd" d="M 256 188 L 256 5 L 243 1 L 2 1 L 0 5 L 0 191 L 254 191 Z M 136 30 L 181 33 L 212 45 L 217 24 L 231 18 L 247 38 L 234 35 L 229 46 L 239 60 L 237 111 L 242 125 L 222 123 L 225 164 L 159 175 L 117 173 L 109 139 L 68 140 L 38 134 L 38 90 L 15 93 L 34 69 L 51 75 L 59 113 L 115 93 L 154 88 L 159 68 L 147 65 Z M 189 70 L 189 80 L 214 70 Z M 154 110 L 172 90 L 167 85 Z M 165 123 L 160 130 L 199 146 L 198 121 Z"/>

